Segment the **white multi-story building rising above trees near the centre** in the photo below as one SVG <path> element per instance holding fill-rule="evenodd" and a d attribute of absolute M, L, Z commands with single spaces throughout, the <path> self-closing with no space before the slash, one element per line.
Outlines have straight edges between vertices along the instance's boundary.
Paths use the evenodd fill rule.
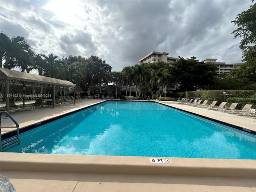
<path fill-rule="evenodd" d="M 170 63 L 170 62 L 176 62 L 177 60 L 179 60 L 179 58 L 174 58 L 174 57 L 168 57 L 169 53 L 166 52 L 156 52 L 156 51 L 152 51 L 150 54 L 147 54 L 146 56 L 144 56 L 143 58 L 141 58 L 139 60 L 140 64 L 141 63 L 156 63 L 156 62 L 166 62 L 166 63 Z"/>

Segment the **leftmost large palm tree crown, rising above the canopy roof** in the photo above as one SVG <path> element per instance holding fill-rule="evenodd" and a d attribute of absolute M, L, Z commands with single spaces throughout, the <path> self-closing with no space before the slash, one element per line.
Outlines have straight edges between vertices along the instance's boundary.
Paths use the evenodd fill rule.
<path fill-rule="evenodd" d="M 22 36 L 12 37 L 11 39 L 3 32 L 0 33 L 0 57 L 1 66 L 7 69 L 21 67 L 26 70 L 31 67 L 32 49 L 27 43 L 26 38 Z M 2 63 L 5 60 L 4 64 Z"/>

